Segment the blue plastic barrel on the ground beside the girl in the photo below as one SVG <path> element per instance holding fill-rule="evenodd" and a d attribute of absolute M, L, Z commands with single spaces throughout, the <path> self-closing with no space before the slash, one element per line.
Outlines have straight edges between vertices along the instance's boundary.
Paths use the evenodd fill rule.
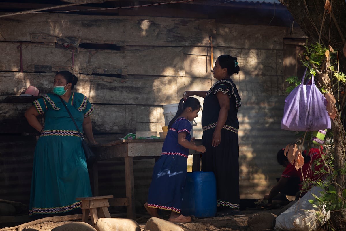
<path fill-rule="evenodd" d="M 186 174 L 181 214 L 198 218 L 216 214 L 216 180 L 213 172 Z"/>

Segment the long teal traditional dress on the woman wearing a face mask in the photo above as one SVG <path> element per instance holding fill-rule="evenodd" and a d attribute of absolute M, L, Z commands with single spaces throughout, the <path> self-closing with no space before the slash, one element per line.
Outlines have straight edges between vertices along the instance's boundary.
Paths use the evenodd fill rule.
<path fill-rule="evenodd" d="M 79 208 L 76 197 L 92 196 L 80 135 L 59 96 L 43 95 L 33 104 L 45 114 L 45 126 L 35 148 L 29 216 Z M 84 117 L 94 106 L 80 93 L 72 93 L 65 104 L 83 131 Z"/>

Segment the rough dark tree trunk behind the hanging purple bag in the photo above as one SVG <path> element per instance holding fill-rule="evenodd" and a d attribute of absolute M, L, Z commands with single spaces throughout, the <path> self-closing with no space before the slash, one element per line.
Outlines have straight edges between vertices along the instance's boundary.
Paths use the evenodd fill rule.
<path fill-rule="evenodd" d="M 295 21 L 297 21 L 300 28 L 309 37 L 311 43 L 319 42 L 320 44 L 328 47 L 333 47 L 334 50 L 339 51 L 339 65 L 335 66 L 335 69 L 346 73 L 346 57 L 343 52 L 346 45 L 346 3 L 345 0 L 329 0 L 331 4 L 330 13 L 326 10 L 326 0 L 279 0 L 292 14 Z M 328 75 L 329 57 L 326 57 L 324 65 L 322 65 L 322 72 L 317 77 L 319 83 L 328 88 L 332 89 L 331 83 L 332 77 Z M 330 94 L 336 95 L 337 92 L 330 90 Z M 337 105 L 338 98 L 336 97 Z M 342 102 L 340 102 L 341 104 Z M 340 105 L 342 109 L 344 105 Z M 346 188 L 346 177 L 342 174 L 345 169 L 345 144 L 346 136 L 345 130 L 340 116 L 342 112 L 338 111 L 334 121 L 331 121 L 331 129 L 334 134 L 334 145 L 335 145 L 335 170 L 337 171 L 337 177 L 335 182 L 340 187 L 336 187 L 340 198 L 342 198 L 342 191 Z M 336 218 L 333 222 L 333 226 L 339 225 L 336 230 L 344 230 L 345 224 L 341 224 L 340 221 L 346 221 L 346 210 L 341 210 L 340 213 L 332 213 L 332 216 Z M 333 221 L 333 220 L 332 220 Z"/>

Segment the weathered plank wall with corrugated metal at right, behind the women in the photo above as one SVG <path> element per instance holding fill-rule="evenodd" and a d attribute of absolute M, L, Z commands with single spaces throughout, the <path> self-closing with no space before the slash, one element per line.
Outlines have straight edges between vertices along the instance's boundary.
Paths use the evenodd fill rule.
<path fill-rule="evenodd" d="M 233 76 L 243 101 L 238 113 L 241 198 L 261 198 L 280 176 L 276 152 L 294 139 L 294 134 L 281 130 L 283 39 L 304 38 L 301 30 L 221 24 L 214 19 L 38 14 L 0 18 L 0 31 L 0 100 L 18 96 L 30 85 L 42 94 L 51 92 L 56 71 L 73 71 L 79 77 L 76 90 L 95 105 L 91 118 L 100 139 L 102 134 L 159 132 L 164 125 L 162 105 L 177 103 L 185 90 L 208 90 L 215 82 L 212 36 L 213 63 L 219 55 L 230 54 L 238 57 L 241 68 Z M 33 133 L 23 116 L 29 106 L 0 103 L 2 135 Z M 200 116 L 196 121 L 194 136 L 201 138 Z M 146 162 L 137 171 L 151 172 L 152 164 Z M 108 163 L 104 166 L 102 179 L 110 172 Z M 121 165 L 117 168 L 121 171 Z M 144 189 L 136 193 L 140 204 L 145 202 L 150 175 L 141 178 Z M 123 180 L 121 174 L 112 177 Z M 103 185 L 100 194 L 117 187 L 118 183 Z M 6 189 L 11 190 L 8 185 Z M 0 197 L 6 197 L 1 192 Z"/>

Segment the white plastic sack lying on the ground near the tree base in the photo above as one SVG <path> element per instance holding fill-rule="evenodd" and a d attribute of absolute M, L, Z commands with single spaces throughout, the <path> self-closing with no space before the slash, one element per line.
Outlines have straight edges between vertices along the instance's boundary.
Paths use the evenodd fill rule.
<path fill-rule="evenodd" d="M 310 199 L 315 199 L 312 194 L 320 197 L 322 189 L 318 186 L 312 187 L 302 198 L 294 203 L 285 212 L 281 213 L 275 219 L 275 230 L 290 230 L 290 231 L 313 231 L 320 228 L 322 224 L 329 220 L 330 212 L 326 214 L 325 207 L 314 208 L 309 202 Z M 318 213 L 324 216 L 324 222 L 318 220 Z"/>

